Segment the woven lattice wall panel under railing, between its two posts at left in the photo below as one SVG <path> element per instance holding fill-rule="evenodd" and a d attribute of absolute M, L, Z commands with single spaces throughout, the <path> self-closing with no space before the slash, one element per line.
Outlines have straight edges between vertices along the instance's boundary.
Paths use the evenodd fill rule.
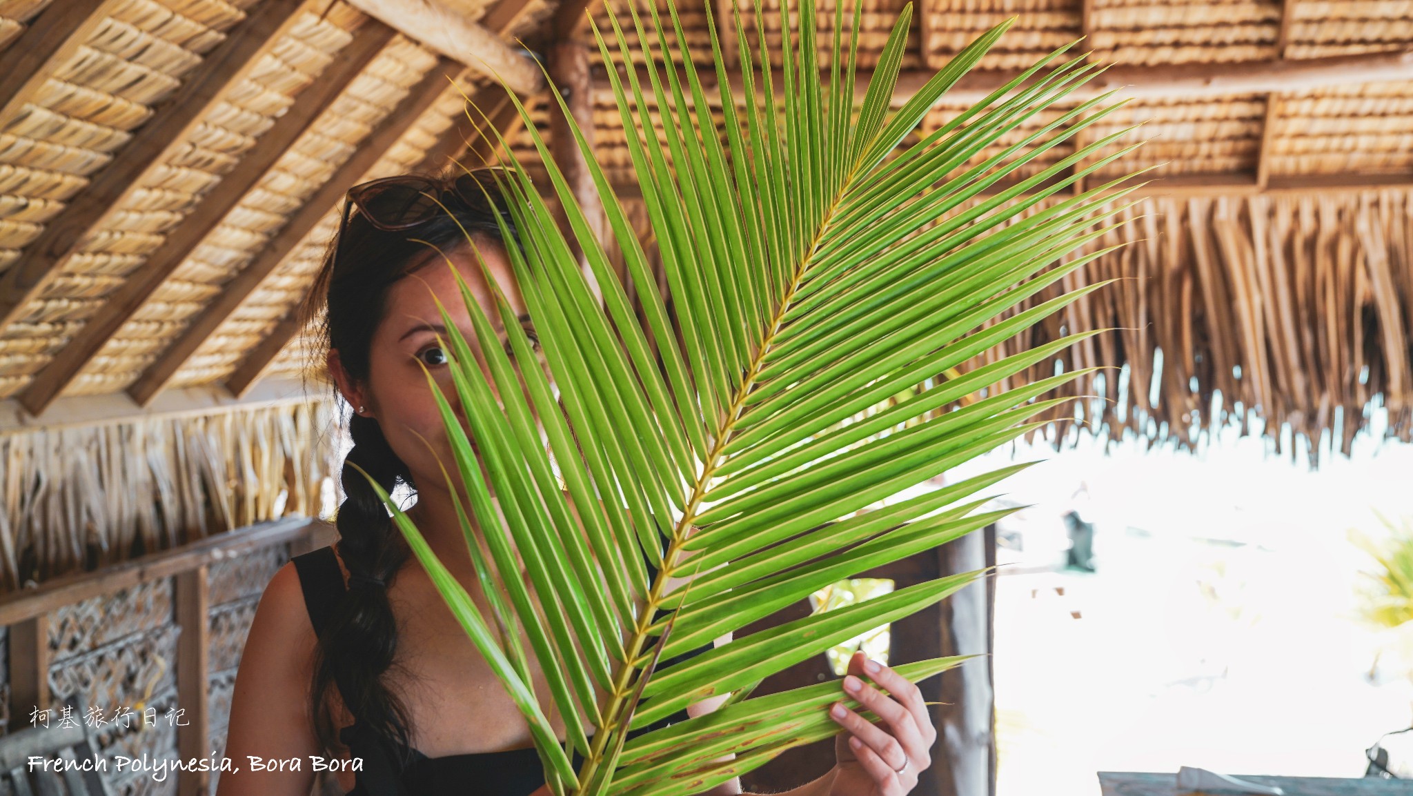
<path fill-rule="evenodd" d="M 49 615 L 49 655 L 59 662 L 171 621 L 171 578 L 147 581 L 54 611 Z"/>

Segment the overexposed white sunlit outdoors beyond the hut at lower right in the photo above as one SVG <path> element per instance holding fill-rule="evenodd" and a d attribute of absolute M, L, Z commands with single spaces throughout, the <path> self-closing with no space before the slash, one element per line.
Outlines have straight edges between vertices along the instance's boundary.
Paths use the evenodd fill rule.
<path fill-rule="evenodd" d="M 948 478 L 1034 460 L 1002 485 L 1033 506 L 998 526 L 1002 796 L 1184 765 L 1356 778 L 1413 722 L 1413 662 L 1362 621 L 1373 561 L 1349 539 L 1413 516 L 1413 445 L 1361 443 L 1317 472 L 1235 433 L 1202 455 L 1019 445 Z M 1065 568 L 1070 510 L 1094 525 L 1092 574 Z"/>

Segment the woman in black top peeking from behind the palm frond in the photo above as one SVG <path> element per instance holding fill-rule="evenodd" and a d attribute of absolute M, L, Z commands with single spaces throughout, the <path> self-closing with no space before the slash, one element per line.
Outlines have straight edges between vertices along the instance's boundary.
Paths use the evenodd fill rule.
<path fill-rule="evenodd" d="M 497 197 L 495 205 L 478 182 Z M 548 793 L 527 722 L 425 570 L 410 563 L 406 540 L 353 467 L 389 492 L 397 482 L 415 488 L 408 515 L 489 614 L 438 464 L 452 454 L 422 368 L 455 394 L 437 344 L 441 320 L 432 295 L 448 298 L 452 317 L 475 339 L 448 260 L 504 335 L 472 245 L 534 339 L 493 213 L 507 225 L 510 216 L 495 191 L 489 171 L 458 180 L 407 175 L 349 191 L 343 223 L 304 310 L 317 317 L 326 308 L 325 362 L 353 409 L 339 542 L 295 557 L 260 599 L 230 708 L 225 755 L 235 771 L 222 773 L 218 796 L 307 796 L 315 758 L 350 768 L 362 759 L 362 771 L 336 773 L 345 792 L 360 796 Z M 728 633 L 714 646 L 729 640 Z M 545 698 L 544 676 L 533 657 L 530 663 Z M 836 703 L 831 717 L 846 732 L 835 741 L 835 768 L 790 793 L 900 796 L 928 766 L 935 731 L 916 686 L 887 667 L 869 672 L 893 694 L 886 696 L 861 680 L 865 663 L 862 653 L 853 656 L 844 687 L 861 687 L 851 696 L 880 724 L 839 711 Z M 692 704 L 653 727 L 709 713 L 723 700 Z M 564 722 L 557 714 L 550 721 L 562 738 Z M 711 793 L 740 793 L 739 779 Z"/>

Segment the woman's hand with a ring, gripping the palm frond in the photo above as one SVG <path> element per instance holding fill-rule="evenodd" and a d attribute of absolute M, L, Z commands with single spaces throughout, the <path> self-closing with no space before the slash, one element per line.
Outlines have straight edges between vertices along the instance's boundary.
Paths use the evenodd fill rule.
<path fill-rule="evenodd" d="M 869 672 L 876 666 L 877 672 Z M 863 681 L 887 689 L 887 694 Z M 851 686 L 858 690 L 851 690 Z M 907 677 L 868 660 L 862 652 L 849 659 L 844 690 L 882 720 L 873 724 L 835 703 L 829 717 L 848 732 L 834 738 L 834 786 L 829 796 L 903 796 L 917 786 L 917 776 L 933 765 L 937 730 L 923 703 L 923 693 Z"/>

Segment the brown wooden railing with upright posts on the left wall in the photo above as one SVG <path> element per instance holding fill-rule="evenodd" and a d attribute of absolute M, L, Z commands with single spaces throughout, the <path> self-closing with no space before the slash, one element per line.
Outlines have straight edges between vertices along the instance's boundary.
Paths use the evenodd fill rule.
<path fill-rule="evenodd" d="M 78 573 L 47 581 L 35 588 L 0 597 L 0 625 L 10 631 L 10 720 L 30 715 L 35 706 L 47 707 L 49 694 L 49 614 L 93 597 L 140 587 L 161 578 L 175 578 L 174 622 L 181 628 L 177 650 L 177 701 L 187 724 L 177 728 L 181 759 L 211 755 L 208 711 L 209 652 L 209 568 L 276 544 L 290 544 L 295 556 L 333 540 L 333 527 L 309 517 L 283 517 L 220 533 L 172 550 L 162 550 L 92 573 Z M 209 793 L 209 772 L 182 771 L 179 796 Z"/>

